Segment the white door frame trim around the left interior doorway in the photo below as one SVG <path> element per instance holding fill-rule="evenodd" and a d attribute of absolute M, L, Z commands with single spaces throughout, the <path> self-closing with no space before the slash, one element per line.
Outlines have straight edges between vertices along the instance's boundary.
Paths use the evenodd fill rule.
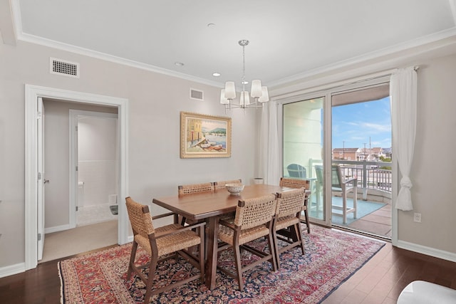
<path fill-rule="evenodd" d="M 51 98 L 73 103 L 118 107 L 119 122 L 119 196 L 128 196 L 128 99 L 83 93 L 38 85 L 25 85 L 25 270 L 38 265 L 38 140 L 37 100 Z M 118 243 L 128 243 L 127 215 L 124 204 L 118 211 Z"/>

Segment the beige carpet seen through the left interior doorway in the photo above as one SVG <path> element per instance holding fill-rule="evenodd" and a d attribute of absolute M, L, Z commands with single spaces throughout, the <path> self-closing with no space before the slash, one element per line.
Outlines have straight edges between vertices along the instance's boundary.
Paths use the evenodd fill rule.
<path fill-rule="evenodd" d="M 118 243 L 118 221 L 80 226 L 46 234 L 43 259 L 38 263 L 73 256 Z"/>

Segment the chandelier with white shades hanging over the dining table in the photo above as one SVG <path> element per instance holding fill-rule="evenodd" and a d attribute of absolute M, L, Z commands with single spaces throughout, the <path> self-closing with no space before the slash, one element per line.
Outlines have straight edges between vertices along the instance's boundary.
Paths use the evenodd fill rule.
<path fill-rule="evenodd" d="M 261 108 L 263 103 L 269 101 L 268 88 L 261 86 L 261 80 L 252 80 L 250 88 L 250 94 L 245 89 L 245 86 L 249 84 L 245 80 L 245 46 L 249 44 L 246 39 L 239 40 L 239 46 L 242 46 L 242 92 L 239 96 L 239 104 L 233 103 L 236 98 L 236 86 L 234 81 L 227 81 L 225 88 L 220 93 L 220 103 L 225 106 L 225 112 L 231 108 Z M 252 96 L 252 103 L 250 102 L 250 96 Z"/>

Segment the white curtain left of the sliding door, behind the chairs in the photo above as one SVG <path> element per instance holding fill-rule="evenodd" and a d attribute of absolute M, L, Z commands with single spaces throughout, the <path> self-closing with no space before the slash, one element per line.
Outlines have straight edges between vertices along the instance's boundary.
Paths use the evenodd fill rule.
<path fill-rule="evenodd" d="M 279 184 L 281 171 L 279 159 L 279 127 L 277 103 L 270 101 L 261 112 L 261 151 L 259 174 L 265 184 Z"/>

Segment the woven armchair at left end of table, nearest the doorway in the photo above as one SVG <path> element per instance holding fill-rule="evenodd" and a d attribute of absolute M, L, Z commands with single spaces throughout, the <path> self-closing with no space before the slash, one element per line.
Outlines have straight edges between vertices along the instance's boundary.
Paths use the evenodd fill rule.
<path fill-rule="evenodd" d="M 127 205 L 128 218 L 130 219 L 134 236 L 130 262 L 128 263 L 127 279 L 130 279 L 132 273 L 140 277 L 146 288 L 145 303 L 149 303 L 151 295 L 162 293 L 170 288 L 175 288 L 197 279 L 201 279 L 204 282 L 204 229 L 201 228 L 205 223 L 185 227 L 180 224 L 170 224 L 155 228 L 153 226 L 154 219 L 160 219 L 165 216 L 176 216 L 176 214 L 170 212 L 151 217 L 149 206 L 133 201 L 130 196 L 125 198 L 125 204 Z M 198 228 L 198 234 L 192 231 L 195 228 Z M 141 266 L 137 266 L 135 263 L 138 246 L 142 247 L 149 254 L 149 263 Z M 198 256 L 186 250 L 194 246 L 199 247 Z M 190 273 L 181 274 L 181 278 L 182 276 L 185 277 L 181 281 L 152 290 L 157 264 L 167 259 L 175 258 L 177 255 L 182 256 L 192 263 L 193 266 L 199 268 L 199 273 L 193 276 L 190 276 Z M 147 267 L 149 268 L 149 273 L 148 276 L 145 276 L 141 269 Z"/>

